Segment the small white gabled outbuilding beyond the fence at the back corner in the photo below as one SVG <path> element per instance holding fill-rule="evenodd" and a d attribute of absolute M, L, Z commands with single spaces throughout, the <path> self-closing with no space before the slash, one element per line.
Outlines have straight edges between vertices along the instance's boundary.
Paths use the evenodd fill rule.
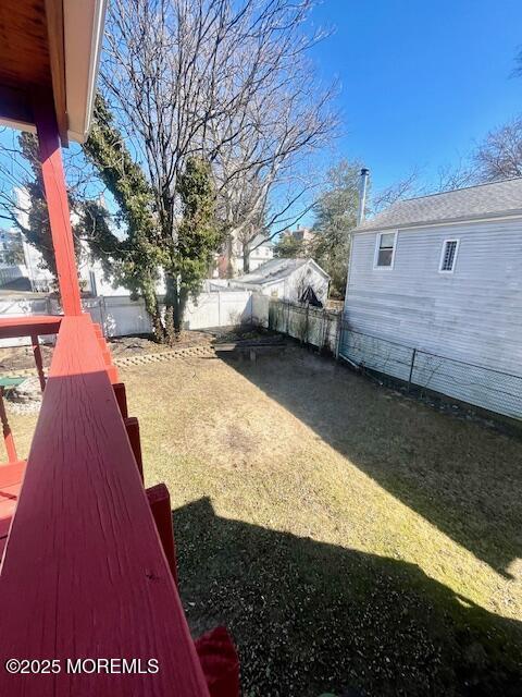
<path fill-rule="evenodd" d="M 324 305 L 330 276 L 313 259 L 272 259 L 256 271 L 232 279 L 229 285 L 291 302 L 311 302 L 315 296 Z"/>

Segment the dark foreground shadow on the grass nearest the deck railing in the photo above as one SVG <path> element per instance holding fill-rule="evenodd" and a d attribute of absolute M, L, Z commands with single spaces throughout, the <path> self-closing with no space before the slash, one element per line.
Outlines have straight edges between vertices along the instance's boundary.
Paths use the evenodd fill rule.
<path fill-rule="evenodd" d="M 224 624 L 244 697 L 522 694 L 521 624 L 418 566 L 215 515 L 173 511 L 195 636 Z"/>

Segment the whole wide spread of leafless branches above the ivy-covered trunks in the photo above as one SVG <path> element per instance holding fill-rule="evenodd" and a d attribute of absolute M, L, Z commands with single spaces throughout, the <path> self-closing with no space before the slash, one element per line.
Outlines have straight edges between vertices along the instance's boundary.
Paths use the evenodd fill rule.
<path fill-rule="evenodd" d="M 306 60 L 312 0 L 113 0 L 102 84 L 147 171 L 160 234 L 176 241 L 176 182 L 188 157 L 211 162 L 217 210 L 245 244 L 309 191 L 283 196 L 299 160 L 332 132 L 332 89 Z M 276 194 L 274 195 L 274 192 Z M 278 210 L 274 201 L 278 198 Z M 287 223 L 286 223 L 287 224 Z M 177 281 L 164 269 L 169 302 Z"/>

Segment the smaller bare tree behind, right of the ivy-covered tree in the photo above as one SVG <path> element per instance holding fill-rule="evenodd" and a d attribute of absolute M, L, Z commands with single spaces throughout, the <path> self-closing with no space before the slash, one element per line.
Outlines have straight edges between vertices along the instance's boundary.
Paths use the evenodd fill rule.
<path fill-rule="evenodd" d="M 270 231 L 272 239 L 313 207 L 322 182 L 309 156 L 326 144 L 336 125 L 330 109 L 334 88 L 315 88 L 302 52 L 309 44 L 296 53 L 297 39 L 290 38 L 285 50 L 293 47 L 291 65 L 271 71 L 239 114 L 244 130 L 236 146 L 222 149 L 215 162 L 224 218 L 246 272 L 259 232 Z"/>

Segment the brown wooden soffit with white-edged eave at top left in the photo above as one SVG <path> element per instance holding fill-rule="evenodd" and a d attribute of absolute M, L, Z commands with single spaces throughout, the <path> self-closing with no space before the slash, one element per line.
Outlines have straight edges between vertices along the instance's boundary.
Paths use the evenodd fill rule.
<path fill-rule="evenodd" d="M 0 0 L 0 123 L 34 130 L 35 100 L 52 97 L 62 144 L 85 139 L 105 0 Z"/>

